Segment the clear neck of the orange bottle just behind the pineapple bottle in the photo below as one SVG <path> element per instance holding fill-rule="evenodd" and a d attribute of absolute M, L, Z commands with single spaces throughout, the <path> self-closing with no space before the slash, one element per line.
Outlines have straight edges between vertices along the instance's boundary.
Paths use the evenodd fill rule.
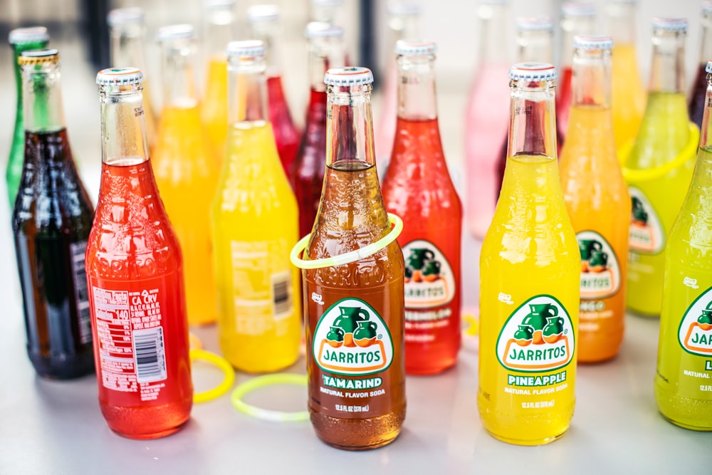
<path fill-rule="evenodd" d="M 573 58 L 572 105 L 611 107 L 611 51 L 577 50 Z"/>

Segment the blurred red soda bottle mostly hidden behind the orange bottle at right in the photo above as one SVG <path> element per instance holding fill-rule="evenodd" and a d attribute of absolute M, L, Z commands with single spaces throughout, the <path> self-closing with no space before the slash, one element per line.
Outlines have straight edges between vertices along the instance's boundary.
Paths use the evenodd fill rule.
<path fill-rule="evenodd" d="M 569 127 L 571 75 L 575 35 L 592 35 L 596 26 L 596 7 L 567 1 L 561 6 L 561 61 L 556 86 L 556 125 L 562 141 Z"/>

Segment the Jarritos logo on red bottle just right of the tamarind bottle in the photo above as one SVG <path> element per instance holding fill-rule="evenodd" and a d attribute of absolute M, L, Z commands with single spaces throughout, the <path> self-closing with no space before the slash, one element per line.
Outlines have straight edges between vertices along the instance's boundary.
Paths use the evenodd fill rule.
<path fill-rule="evenodd" d="M 405 258 L 405 306 L 432 308 L 450 303 L 455 278 L 450 263 L 434 244 L 423 239 L 403 247 Z"/>

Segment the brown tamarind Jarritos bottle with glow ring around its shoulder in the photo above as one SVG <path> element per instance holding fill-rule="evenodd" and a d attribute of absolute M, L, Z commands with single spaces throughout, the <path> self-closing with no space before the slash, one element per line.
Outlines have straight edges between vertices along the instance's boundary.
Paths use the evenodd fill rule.
<path fill-rule="evenodd" d="M 330 259 L 391 231 L 379 188 L 372 73 L 330 69 L 326 176 L 306 260 Z M 392 442 L 405 419 L 404 263 L 397 242 L 340 266 L 303 270 L 309 412 L 339 449 Z"/>

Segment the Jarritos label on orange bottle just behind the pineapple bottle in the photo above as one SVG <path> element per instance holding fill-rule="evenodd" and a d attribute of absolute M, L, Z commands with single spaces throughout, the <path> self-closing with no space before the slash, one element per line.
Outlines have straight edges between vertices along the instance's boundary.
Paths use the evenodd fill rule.
<path fill-rule="evenodd" d="M 581 231 L 576 239 L 581 254 L 581 298 L 615 295 L 621 285 L 621 271 L 611 245 L 595 231 Z"/>

